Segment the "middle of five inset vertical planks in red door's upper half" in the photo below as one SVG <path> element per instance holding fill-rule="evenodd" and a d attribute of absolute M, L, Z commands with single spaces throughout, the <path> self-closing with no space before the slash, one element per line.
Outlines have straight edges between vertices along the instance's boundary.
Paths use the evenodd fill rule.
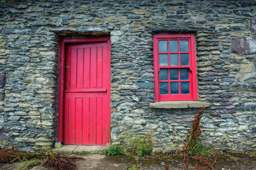
<path fill-rule="evenodd" d="M 84 87 L 90 87 L 90 48 L 84 48 Z"/>

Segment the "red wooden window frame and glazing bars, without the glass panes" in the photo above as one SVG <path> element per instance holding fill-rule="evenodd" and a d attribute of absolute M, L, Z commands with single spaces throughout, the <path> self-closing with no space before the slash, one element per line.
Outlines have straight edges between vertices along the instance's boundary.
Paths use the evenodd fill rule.
<path fill-rule="evenodd" d="M 195 61 L 195 37 L 193 34 L 155 34 L 154 40 L 154 91 L 156 101 L 198 100 Z M 167 40 L 167 52 L 159 52 L 159 40 Z M 178 41 L 178 52 L 169 51 L 169 40 Z M 180 40 L 188 40 L 189 51 L 180 52 Z M 159 54 L 168 55 L 168 66 L 159 65 Z M 170 54 L 178 54 L 179 65 L 170 65 Z M 189 54 L 189 65 L 180 65 L 180 54 Z M 168 69 L 168 80 L 159 80 L 159 70 Z M 169 69 L 178 69 L 178 80 L 170 80 Z M 189 80 L 180 80 L 180 68 L 189 70 Z M 168 82 L 168 94 L 160 94 L 160 82 Z M 179 94 L 170 94 L 170 82 L 179 82 Z M 189 94 L 181 94 L 180 82 L 189 82 Z"/>

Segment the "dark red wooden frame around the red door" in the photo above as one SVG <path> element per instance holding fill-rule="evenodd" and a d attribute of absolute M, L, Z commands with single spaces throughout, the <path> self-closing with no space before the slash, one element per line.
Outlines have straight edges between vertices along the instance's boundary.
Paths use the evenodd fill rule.
<path fill-rule="evenodd" d="M 60 67 L 59 67 L 59 95 L 58 95 L 58 142 L 63 142 L 64 138 L 64 85 L 65 85 L 65 51 L 67 44 L 73 43 L 90 43 L 90 42 L 107 42 L 107 103 L 109 109 L 105 110 L 108 114 L 109 120 L 107 126 L 110 128 L 110 91 L 111 91 L 111 42 L 110 37 L 96 37 L 96 38 L 74 38 L 60 40 Z M 108 129 L 110 130 L 110 129 Z"/>

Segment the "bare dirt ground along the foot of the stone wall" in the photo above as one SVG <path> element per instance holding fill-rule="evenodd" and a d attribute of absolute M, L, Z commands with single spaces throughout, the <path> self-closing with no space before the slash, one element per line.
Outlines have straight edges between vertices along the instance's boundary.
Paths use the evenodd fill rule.
<path fill-rule="evenodd" d="M 166 164 L 169 165 L 169 170 L 182 170 L 184 168 L 183 159 L 180 156 L 158 155 L 139 160 L 127 155 L 103 156 L 93 154 L 82 157 L 84 160 L 76 161 L 77 170 L 128 170 L 134 164 L 140 165 L 138 170 L 164 170 Z M 18 163 L 0 164 L 0 170 L 15 169 L 17 165 Z M 189 169 L 195 170 L 195 161 L 189 161 Z M 256 170 L 256 156 L 246 153 L 221 154 L 214 165 L 214 169 Z M 54 170 L 54 168 L 36 166 L 30 170 Z"/>

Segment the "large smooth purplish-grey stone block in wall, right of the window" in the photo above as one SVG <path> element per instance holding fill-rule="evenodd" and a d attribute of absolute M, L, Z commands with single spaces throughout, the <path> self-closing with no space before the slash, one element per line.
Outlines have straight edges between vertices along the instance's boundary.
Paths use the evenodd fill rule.
<path fill-rule="evenodd" d="M 231 52 L 236 54 L 256 54 L 256 37 L 233 38 Z"/>

